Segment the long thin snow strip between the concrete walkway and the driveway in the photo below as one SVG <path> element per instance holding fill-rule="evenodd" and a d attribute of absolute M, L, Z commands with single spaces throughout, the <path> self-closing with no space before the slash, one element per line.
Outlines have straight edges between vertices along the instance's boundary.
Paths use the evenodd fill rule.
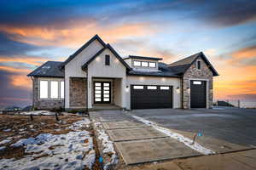
<path fill-rule="evenodd" d="M 191 149 L 196 150 L 196 151 L 200 152 L 201 154 L 204 154 L 204 155 L 215 154 L 215 152 L 213 150 L 209 150 L 209 149 L 203 147 L 201 144 L 198 144 L 197 142 L 192 144 L 193 140 L 184 137 L 182 134 L 174 133 L 174 132 L 172 132 L 172 130 L 165 128 L 165 127 L 160 127 L 156 123 L 150 122 L 146 119 L 143 119 L 142 117 L 139 117 L 139 116 L 132 116 L 132 117 L 134 117 L 135 119 L 137 119 L 140 122 L 143 122 L 147 125 L 150 125 L 151 127 L 154 127 L 155 129 L 159 130 L 162 133 L 165 133 L 166 135 L 170 136 L 172 139 L 177 139 L 179 142 L 186 144 Z"/>

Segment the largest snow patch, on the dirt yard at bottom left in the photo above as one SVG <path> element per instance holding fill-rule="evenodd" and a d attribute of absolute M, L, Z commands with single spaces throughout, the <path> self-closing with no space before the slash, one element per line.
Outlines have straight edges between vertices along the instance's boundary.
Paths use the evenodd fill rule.
<path fill-rule="evenodd" d="M 79 131 L 83 122 L 74 122 L 75 132 L 66 134 L 41 133 L 35 138 L 20 139 L 14 147 L 23 146 L 27 156 L 1 159 L 4 169 L 84 169 L 92 168 L 96 159 L 90 132 Z M 79 125 L 80 124 L 80 125 Z"/>

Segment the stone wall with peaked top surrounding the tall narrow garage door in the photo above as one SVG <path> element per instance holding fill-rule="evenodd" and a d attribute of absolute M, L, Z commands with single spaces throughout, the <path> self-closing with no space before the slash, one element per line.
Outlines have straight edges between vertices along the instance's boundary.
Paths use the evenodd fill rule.
<path fill-rule="evenodd" d="M 199 57 L 198 59 L 201 59 Z M 212 71 L 208 68 L 206 63 L 201 59 L 201 71 L 196 69 L 196 60 L 195 62 L 189 67 L 189 69 L 185 72 L 183 76 L 183 109 L 189 109 L 189 100 L 190 100 L 190 93 L 188 92 L 187 88 L 190 87 L 189 79 L 198 78 L 198 79 L 208 79 L 209 81 L 209 89 L 208 89 L 208 107 L 212 107 L 213 101 L 213 92 L 212 92 Z"/>

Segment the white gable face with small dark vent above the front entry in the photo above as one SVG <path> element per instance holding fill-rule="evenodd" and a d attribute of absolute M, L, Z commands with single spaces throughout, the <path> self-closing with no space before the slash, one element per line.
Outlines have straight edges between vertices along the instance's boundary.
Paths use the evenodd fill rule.
<path fill-rule="evenodd" d="M 105 65 L 105 56 L 109 55 L 109 65 Z M 89 65 L 87 71 L 93 77 L 125 77 L 126 67 L 109 48 L 104 48 Z"/>

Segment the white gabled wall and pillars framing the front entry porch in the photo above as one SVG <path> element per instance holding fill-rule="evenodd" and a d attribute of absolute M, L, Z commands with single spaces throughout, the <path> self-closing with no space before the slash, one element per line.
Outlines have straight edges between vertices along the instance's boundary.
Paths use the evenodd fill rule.
<path fill-rule="evenodd" d="M 105 65 L 105 55 L 110 56 L 110 65 Z M 88 65 L 88 99 L 92 99 L 92 78 L 101 77 L 101 78 L 121 78 L 122 81 L 122 94 L 125 94 L 125 81 L 126 81 L 126 68 L 119 59 L 117 59 L 113 53 L 107 48 L 102 54 L 96 57 L 90 65 Z M 88 100 L 88 108 L 92 107 L 92 100 Z M 122 98 L 120 101 L 120 106 L 125 107 L 125 98 Z"/>

